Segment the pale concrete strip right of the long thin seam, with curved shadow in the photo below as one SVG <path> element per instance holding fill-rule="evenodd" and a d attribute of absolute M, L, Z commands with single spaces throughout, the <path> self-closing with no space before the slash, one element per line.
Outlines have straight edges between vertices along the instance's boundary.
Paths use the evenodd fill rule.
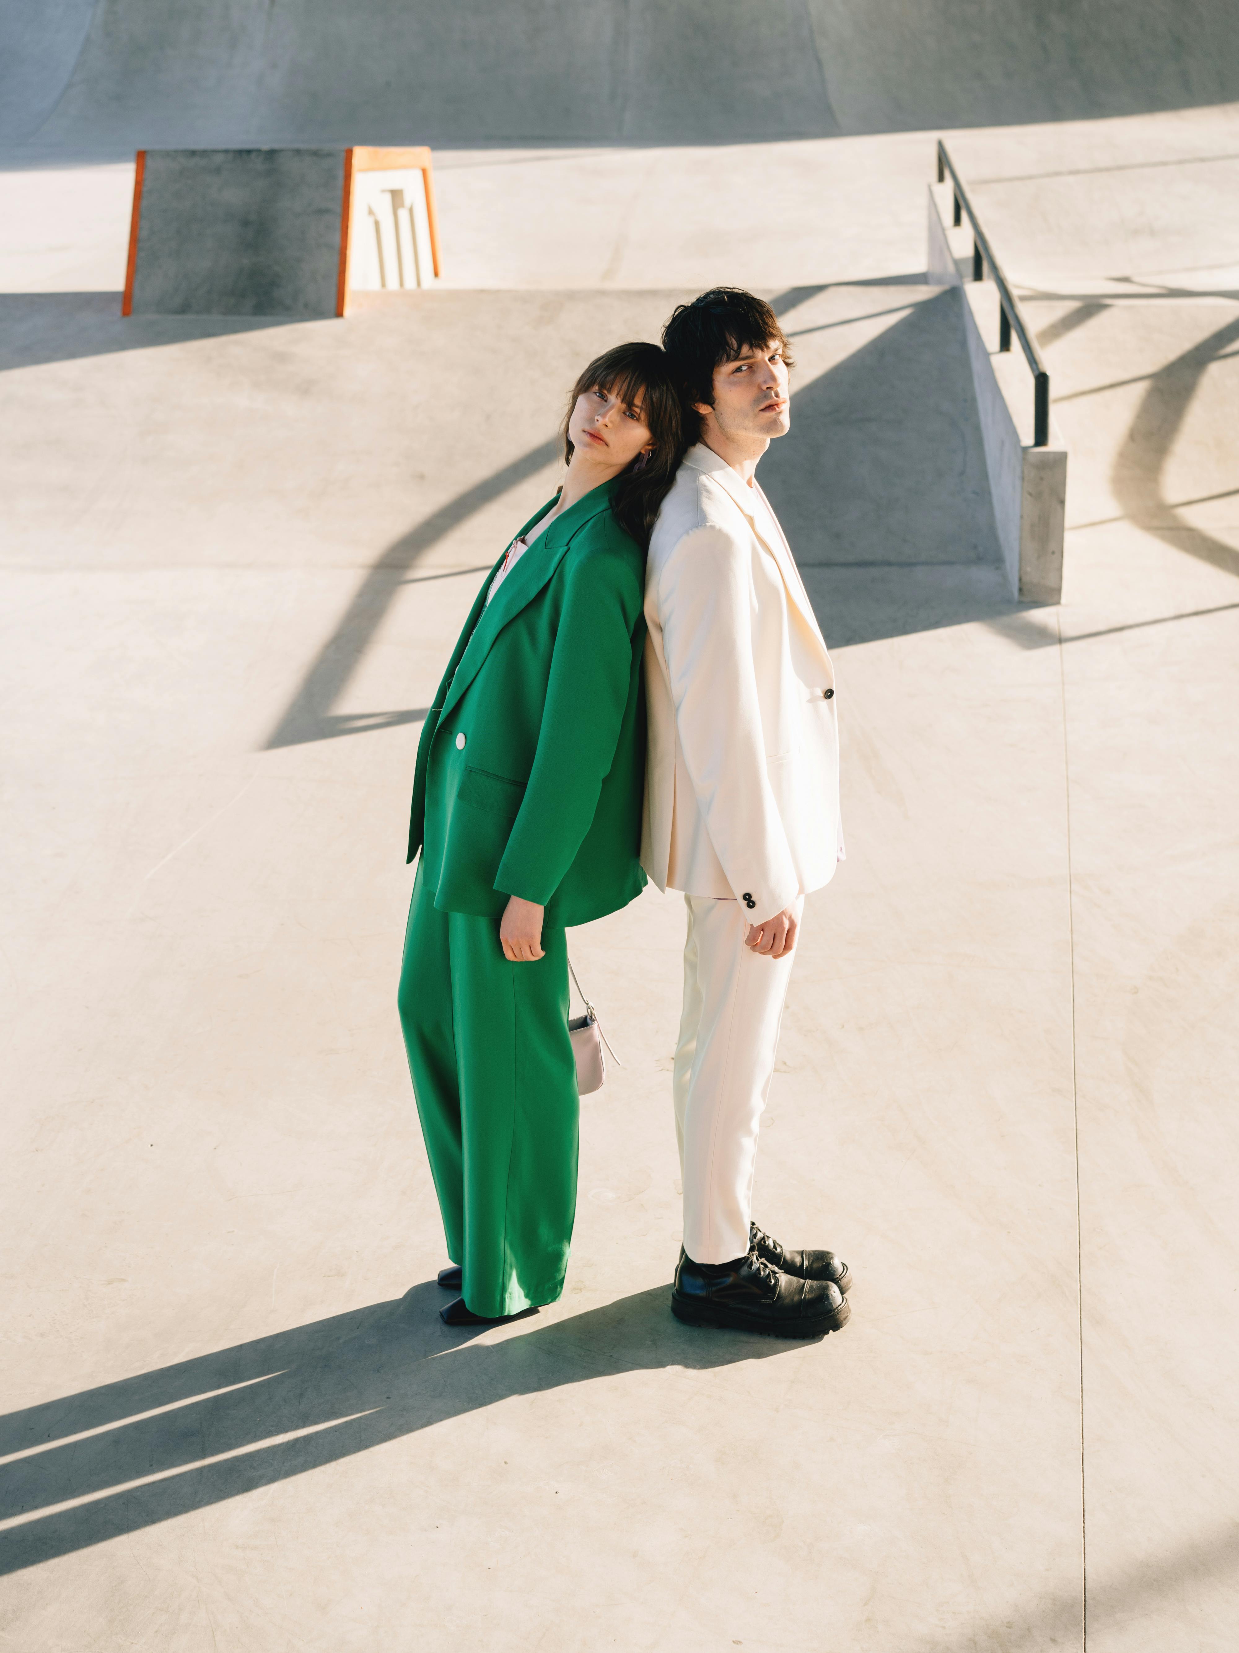
<path fill-rule="evenodd" d="M 1031 307 L 1074 466 L 1054 651 L 1072 805 L 1089 1645 L 1221 1650 L 1239 1622 L 1239 293 Z"/>

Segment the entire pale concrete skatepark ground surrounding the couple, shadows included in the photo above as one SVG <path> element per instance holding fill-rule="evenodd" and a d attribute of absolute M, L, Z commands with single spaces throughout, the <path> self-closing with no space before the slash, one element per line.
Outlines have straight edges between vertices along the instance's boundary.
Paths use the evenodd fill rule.
<path fill-rule="evenodd" d="M 469 291 L 307 324 L 121 322 L 124 169 L 13 160 L 0 1646 L 1042 1653 L 1087 1612 L 1102 1653 L 1229 1653 L 1234 139 L 952 139 L 1070 445 L 1059 608 L 998 569 L 958 294 L 905 279 L 932 136 L 456 150 Z M 646 893 L 572 939 L 626 1066 L 565 1298 L 464 1337 L 393 1010 L 418 721 L 578 364 L 720 278 L 800 355 L 762 474 L 849 851 L 757 1215 L 847 1256 L 854 1316 L 667 1312 L 682 907 Z"/>

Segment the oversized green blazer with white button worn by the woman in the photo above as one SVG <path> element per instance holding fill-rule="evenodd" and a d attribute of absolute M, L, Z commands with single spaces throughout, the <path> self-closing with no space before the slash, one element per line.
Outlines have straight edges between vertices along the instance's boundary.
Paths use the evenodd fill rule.
<path fill-rule="evenodd" d="M 408 860 L 421 850 L 446 912 L 497 917 L 522 896 L 552 924 L 586 924 L 646 883 L 646 559 L 610 506 L 610 483 L 578 499 L 489 608 L 487 574 L 443 674 L 418 744 Z"/>

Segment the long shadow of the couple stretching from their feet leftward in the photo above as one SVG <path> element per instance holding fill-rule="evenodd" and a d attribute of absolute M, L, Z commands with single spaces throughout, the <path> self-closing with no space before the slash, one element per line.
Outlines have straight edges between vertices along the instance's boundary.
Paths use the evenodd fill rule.
<path fill-rule="evenodd" d="M 0 1574 L 349 1458 L 444 1418 L 620 1372 L 786 1344 L 681 1326 L 667 1286 L 471 1346 L 431 1283 L 0 1418 Z M 12 1456 L 20 1453 L 21 1456 Z M 135 1484 L 137 1483 L 137 1484 Z"/>

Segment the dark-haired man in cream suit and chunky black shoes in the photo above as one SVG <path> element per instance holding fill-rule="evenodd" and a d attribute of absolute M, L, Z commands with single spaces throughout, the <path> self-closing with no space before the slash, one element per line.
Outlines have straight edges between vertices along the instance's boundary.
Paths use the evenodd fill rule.
<path fill-rule="evenodd" d="M 752 1223 L 757 1132 L 805 896 L 843 860 L 834 671 L 757 461 L 790 426 L 788 342 L 735 288 L 662 345 L 699 440 L 646 567 L 649 757 L 641 861 L 687 904 L 674 1066 L 684 1321 L 813 1337 L 847 1319 L 847 1266 Z"/>

